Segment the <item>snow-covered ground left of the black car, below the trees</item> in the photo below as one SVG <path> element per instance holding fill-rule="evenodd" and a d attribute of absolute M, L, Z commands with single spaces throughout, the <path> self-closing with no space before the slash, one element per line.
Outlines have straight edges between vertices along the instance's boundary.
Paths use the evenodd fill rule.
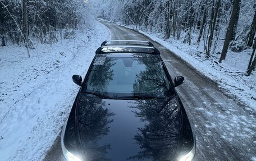
<path fill-rule="evenodd" d="M 0 47 L 0 160 L 40 160 L 70 113 L 95 50 L 110 39 L 107 27 L 76 31 L 74 39 L 35 43 L 28 58 L 24 47 Z"/>

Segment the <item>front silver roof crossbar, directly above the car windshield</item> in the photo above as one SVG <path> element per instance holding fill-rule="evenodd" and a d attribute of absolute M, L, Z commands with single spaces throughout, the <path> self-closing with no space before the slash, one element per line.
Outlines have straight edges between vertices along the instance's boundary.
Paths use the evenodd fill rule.
<path fill-rule="evenodd" d="M 157 48 L 148 46 L 136 46 L 136 45 L 112 45 L 99 47 L 95 54 L 108 54 L 108 53 L 146 53 L 146 54 L 157 54 L 160 52 Z"/>

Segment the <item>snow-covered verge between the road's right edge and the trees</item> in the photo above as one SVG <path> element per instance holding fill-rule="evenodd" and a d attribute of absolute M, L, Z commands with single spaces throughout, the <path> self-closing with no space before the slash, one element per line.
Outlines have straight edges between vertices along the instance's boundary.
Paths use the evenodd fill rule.
<path fill-rule="evenodd" d="M 117 24 L 125 26 L 120 22 L 117 22 Z M 246 49 L 239 53 L 228 50 L 226 60 L 219 63 L 220 54 L 217 52 L 221 52 L 222 47 L 218 46 L 218 43 L 223 43 L 218 42 L 216 52 L 207 59 L 203 52 L 203 40 L 200 44 L 191 43 L 191 45 L 188 45 L 188 43 L 182 43 L 185 35 L 181 35 L 180 40 L 163 39 L 163 35 L 148 30 L 139 30 L 134 25 L 125 27 L 139 31 L 139 33 L 147 35 L 150 39 L 162 44 L 176 56 L 193 66 L 199 73 L 216 82 L 226 95 L 235 98 L 241 104 L 245 104 L 245 108 L 249 107 L 249 110 L 256 109 L 256 72 L 254 70 L 250 76 L 245 76 L 252 49 Z M 196 42 L 196 40 L 197 36 L 192 35 L 191 42 Z"/>

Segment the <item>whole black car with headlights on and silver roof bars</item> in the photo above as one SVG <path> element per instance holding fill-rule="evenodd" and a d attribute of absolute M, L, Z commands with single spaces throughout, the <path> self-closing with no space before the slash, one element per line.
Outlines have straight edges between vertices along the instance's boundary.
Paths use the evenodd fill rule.
<path fill-rule="evenodd" d="M 174 83 L 153 44 L 102 43 L 82 82 L 61 145 L 67 160 L 192 160 L 196 141 Z"/>

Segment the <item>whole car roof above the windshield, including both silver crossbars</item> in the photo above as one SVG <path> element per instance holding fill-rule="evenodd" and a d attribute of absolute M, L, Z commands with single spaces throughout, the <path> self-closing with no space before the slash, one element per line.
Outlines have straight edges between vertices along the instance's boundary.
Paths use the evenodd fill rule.
<path fill-rule="evenodd" d="M 108 53 L 145 53 L 145 54 L 160 54 L 154 45 L 147 41 L 139 40 L 108 40 L 102 43 L 96 54 Z"/>

